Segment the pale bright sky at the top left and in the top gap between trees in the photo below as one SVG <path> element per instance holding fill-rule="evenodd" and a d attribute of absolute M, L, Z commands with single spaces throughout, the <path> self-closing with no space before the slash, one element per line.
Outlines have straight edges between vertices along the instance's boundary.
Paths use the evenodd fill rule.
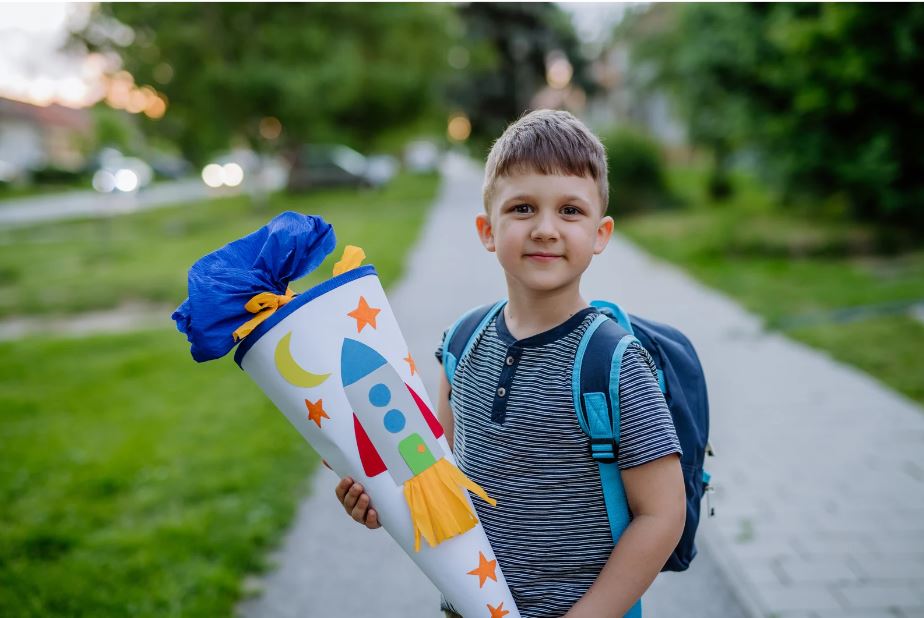
<path fill-rule="evenodd" d="M 559 3 L 579 37 L 598 42 L 625 10 L 623 3 Z M 0 3 L 0 97 L 37 105 L 84 107 L 102 96 L 105 61 L 58 51 L 67 24 L 80 22 L 89 3 Z"/>

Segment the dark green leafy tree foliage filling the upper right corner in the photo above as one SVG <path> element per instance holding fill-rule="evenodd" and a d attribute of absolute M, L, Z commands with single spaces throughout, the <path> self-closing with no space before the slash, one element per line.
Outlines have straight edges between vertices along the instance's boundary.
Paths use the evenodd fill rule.
<path fill-rule="evenodd" d="M 924 6 L 658 5 L 633 29 L 720 171 L 746 147 L 790 198 L 924 233 Z"/>

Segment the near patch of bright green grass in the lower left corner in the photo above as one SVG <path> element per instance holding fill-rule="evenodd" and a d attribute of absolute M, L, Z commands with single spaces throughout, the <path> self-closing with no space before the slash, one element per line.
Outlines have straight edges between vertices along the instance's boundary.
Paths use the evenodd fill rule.
<path fill-rule="evenodd" d="M 174 331 L 0 345 L 0 615 L 227 616 L 316 457 Z"/>

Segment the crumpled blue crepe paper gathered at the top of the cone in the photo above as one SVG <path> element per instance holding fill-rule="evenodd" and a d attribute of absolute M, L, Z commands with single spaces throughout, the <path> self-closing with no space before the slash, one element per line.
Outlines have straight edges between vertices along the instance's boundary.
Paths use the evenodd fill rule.
<path fill-rule="evenodd" d="M 189 298 L 173 312 L 198 362 L 220 358 L 232 333 L 254 317 L 244 305 L 261 292 L 285 294 L 289 282 L 324 261 L 337 244 L 321 217 L 284 212 L 256 232 L 200 258 L 189 269 Z"/>

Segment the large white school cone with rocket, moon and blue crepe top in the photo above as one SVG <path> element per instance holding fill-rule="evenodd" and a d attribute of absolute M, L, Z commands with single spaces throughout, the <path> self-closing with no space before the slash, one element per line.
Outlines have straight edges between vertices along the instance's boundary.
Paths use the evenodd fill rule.
<path fill-rule="evenodd" d="M 241 326 L 229 333 L 231 346 L 240 341 L 235 361 L 337 475 L 362 483 L 382 526 L 453 608 L 465 618 L 518 618 L 469 492 L 495 502 L 456 467 L 375 268 L 361 266 L 362 251 L 348 248 L 331 279 L 294 295 L 288 281 L 323 260 L 292 264 L 298 250 L 292 239 L 305 234 L 314 238 L 302 244 L 314 252 L 326 256 L 333 248 L 333 230 L 320 218 L 283 213 L 240 245 L 215 252 L 248 253 L 237 266 L 265 268 L 271 254 L 289 262 L 287 272 L 255 277 L 272 280 L 273 289 L 257 291 L 244 303 L 246 314 L 236 308 L 227 320 L 196 319 L 223 306 L 201 296 L 225 290 L 225 275 L 210 286 L 199 274 L 226 271 L 220 268 L 226 256 L 210 254 L 190 269 L 190 298 L 174 318 L 193 356 L 220 356 L 229 343 L 216 336 L 218 345 L 197 347 L 206 340 L 197 323 L 214 331 L 220 322 L 227 330 L 236 318 Z M 200 263 L 206 268 L 194 276 Z M 235 293 L 237 301 L 246 295 Z"/>

